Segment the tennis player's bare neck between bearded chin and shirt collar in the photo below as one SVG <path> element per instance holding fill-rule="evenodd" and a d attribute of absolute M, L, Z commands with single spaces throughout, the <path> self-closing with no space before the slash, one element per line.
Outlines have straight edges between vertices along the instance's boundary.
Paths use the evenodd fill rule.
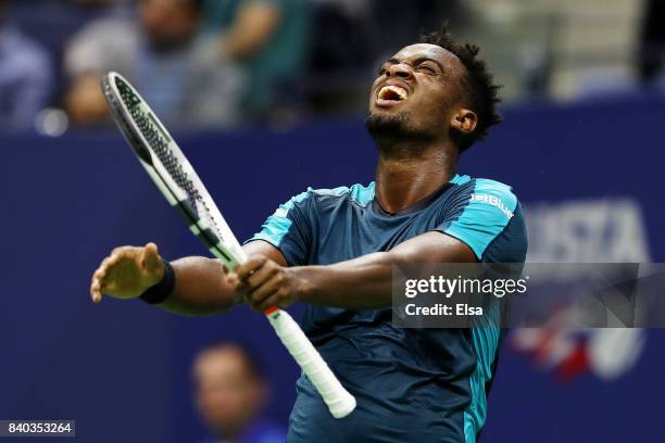
<path fill-rule="evenodd" d="M 384 211 L 396 214 L 431 194 L 455 174 L 457 150 L 450 140 L 379 143 L 376 198 Z"/>

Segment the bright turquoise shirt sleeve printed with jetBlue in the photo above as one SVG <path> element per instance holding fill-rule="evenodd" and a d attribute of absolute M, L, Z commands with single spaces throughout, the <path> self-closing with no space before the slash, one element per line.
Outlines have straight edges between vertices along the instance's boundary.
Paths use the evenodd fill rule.
<path fill-rule="evenodd" d="M 513 232 L 522 231 L 524 226 L 518 210 L 517 198 L 509 186 L 494 180 L 476 179 L 468 198 L 463 199 L 435 230 L 466 243 L 479 261 L 486 258 L 486 252 L 498 239 L 507 235 L 513 239 L 511 249 L 518 246 L 526 253 L 526 236 L 515 236 Z M 516 241 L 524 244 L 516 244 Z M 492 255 L 504 261 L 501 254 Z M 505 258 L 505 262 L 512 262 L 507 255 Z"/>

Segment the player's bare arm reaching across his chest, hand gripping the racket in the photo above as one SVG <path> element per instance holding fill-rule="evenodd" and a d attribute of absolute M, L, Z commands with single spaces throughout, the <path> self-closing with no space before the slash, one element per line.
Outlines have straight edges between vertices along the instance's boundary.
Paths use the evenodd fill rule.
<path fill-rule="evenodd" d="M 288 306 L 296 301 L 349 309 L 390 306 L 392 266 L 406 263 L 474 263 L 462 241 L 427 232 L 389 252 L 378 252 L 328 266 L 284 268 L 260 256 L 238 267 L 252 307 Z"/>

